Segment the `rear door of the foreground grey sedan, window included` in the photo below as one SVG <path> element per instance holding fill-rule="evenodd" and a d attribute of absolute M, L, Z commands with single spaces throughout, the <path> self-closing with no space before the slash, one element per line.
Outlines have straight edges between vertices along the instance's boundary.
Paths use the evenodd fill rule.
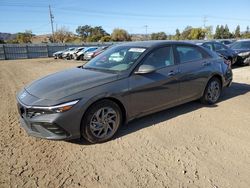
<path fill-rule="evenodd" d="M 180 100 L 193 100 L 202 95 L 210 73 L 209 55 L 193 45 L 177 45 L 180 66 Z"/>

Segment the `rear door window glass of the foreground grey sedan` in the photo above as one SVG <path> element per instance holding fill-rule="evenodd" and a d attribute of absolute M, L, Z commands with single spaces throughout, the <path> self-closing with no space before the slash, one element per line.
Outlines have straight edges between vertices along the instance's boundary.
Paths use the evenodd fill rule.
<path fill-rule="evenodd" d="M 192 46 L 177 46 L 177 53 L 179 55 L 180 63 L 187 63 L 190 61 L 198 61 L 203 59 L 202 53 Z"/>

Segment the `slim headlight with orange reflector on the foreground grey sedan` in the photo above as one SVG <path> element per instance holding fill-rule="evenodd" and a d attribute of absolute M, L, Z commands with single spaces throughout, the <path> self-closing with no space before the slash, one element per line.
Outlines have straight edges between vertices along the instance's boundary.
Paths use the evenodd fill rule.
<path fill-rule="evenodd" d="M 27 109 L 27 116 L 34 117 L 43 114 L 62 113 L 70 110 L 79 100 L 59 104 L 56 106 L 32 106 Z"/>

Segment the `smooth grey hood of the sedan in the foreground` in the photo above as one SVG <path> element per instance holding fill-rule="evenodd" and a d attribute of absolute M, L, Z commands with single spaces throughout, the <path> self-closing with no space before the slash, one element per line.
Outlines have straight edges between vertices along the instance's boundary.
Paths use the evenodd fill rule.
<path fill-rule="evenodd" d="M 40 99 L 59 100 L 75 93 L 112 82 L 117 77 L 117 74 L 73 68 L 36 80 L 25 87 L 25 90 Z"/>

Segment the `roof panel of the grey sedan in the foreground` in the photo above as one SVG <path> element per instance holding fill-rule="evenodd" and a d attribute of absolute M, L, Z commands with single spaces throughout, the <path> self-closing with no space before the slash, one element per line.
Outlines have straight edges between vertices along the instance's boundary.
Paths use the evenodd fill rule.
<path fill-rule="evenodd" d="M 187 42 L 187 41 L 166 41 L 166 40 L 152 40 L 152 41 L 137 41 L 137 42 L 125 42 L 121 43 L 118 46 L 131 46 L 131 47 L 144 47 L 144 48 L 151 48 L 159 45 L 168 45 L 168 44 L 191 44 L 195 45 L 194 43 Z"/>

